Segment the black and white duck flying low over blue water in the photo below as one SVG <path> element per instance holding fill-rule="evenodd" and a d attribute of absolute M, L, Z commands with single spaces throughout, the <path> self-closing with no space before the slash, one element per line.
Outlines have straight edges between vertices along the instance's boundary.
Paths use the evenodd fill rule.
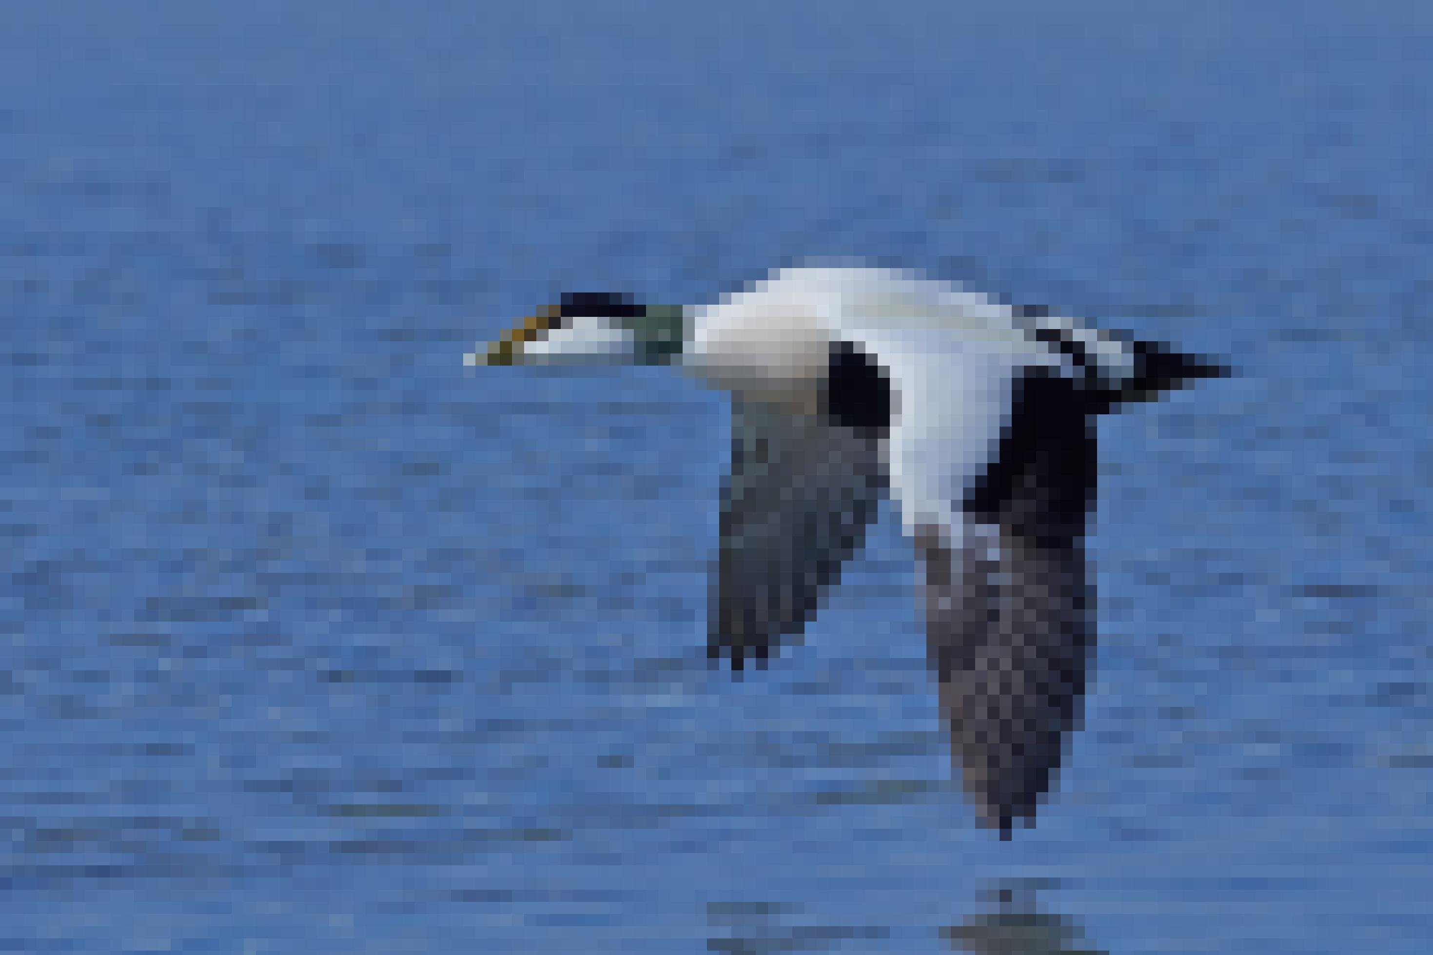
<path fill-rule="evenodd" d="M 923 566 L 927 660 L 983 825 L 1033 825 L 1095 643 L 1096 418 L 1222 364 L 877 268 L 788 268 L 706 306 L 565 295 L 469 365 L 672 365 L 732 399 L 708 654 L 800 634 L 883 495 Z"/>

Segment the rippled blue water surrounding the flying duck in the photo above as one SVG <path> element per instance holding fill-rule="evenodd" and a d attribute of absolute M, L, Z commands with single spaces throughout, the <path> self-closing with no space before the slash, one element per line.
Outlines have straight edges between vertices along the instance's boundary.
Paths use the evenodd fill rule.
<path fill-rule="evenodd" d="M 1427 952 L 1430 10 L 4 4 L 0 949 Z M 734 682 L 722 399 L 461 367 L 800 256 L 1241 371 L 1013 842 L 891 514 Z"/>

